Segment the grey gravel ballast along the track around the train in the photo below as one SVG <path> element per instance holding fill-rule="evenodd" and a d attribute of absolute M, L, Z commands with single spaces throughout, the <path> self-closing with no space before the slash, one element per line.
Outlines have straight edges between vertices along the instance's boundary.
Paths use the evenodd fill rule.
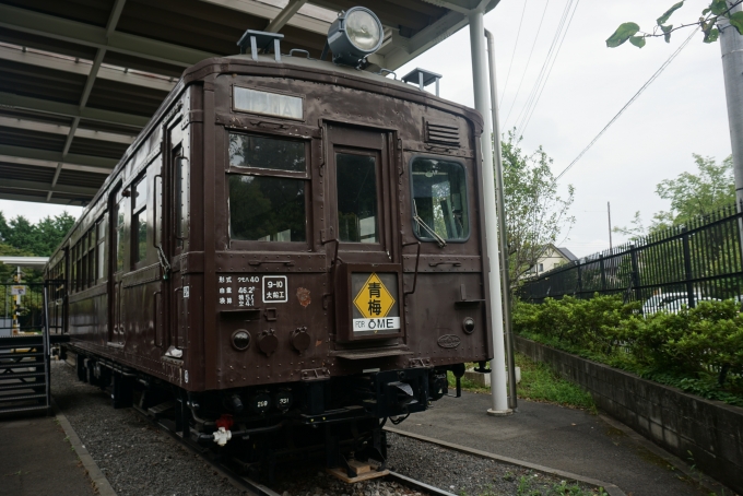
<path fill-rule="evenodd" d="M 119 496 L 241 495 L 209 463 L 131 409 L 114 410 L 109 395 L 80 382 L 74 370 L 54 362 L 55 401 Z M 549 494 L 558 477 L 388 433 L 388 464 L 396 472 L 456 494 Z M 281 474 L 281 471 L 279 472 Z M 397 483 L 347 485 L 319 468 L 275 485 L 283 496 L 416 496 Z M 568 485 L 573 485 L 567 481 Z M 581 486 L 590 494 L 588 486 Z M 528 489 L 528 493 L 523 493 Z M 557 493 L 554 493 L 557 494 Z"/>

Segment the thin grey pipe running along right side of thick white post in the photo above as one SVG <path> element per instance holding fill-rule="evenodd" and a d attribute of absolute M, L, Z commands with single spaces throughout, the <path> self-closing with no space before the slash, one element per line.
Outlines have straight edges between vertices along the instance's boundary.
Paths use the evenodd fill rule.
<path fill-rule="evenodd" d="M 493 113 L 493 145 L 495 147 L 495 196 L 498 200 L 498 245 L 500 247 L 500 286 L 503 287 L 503 321 L 506 330 L 506 364 L 508 365 L 508 408 L 516 410 L 516 363 L 514 359 L 514 323 L 511 321 L 511 292 L 508 268 L 508 229 L 506 228 L 506 194 L 503 182 L 503 150 L 500 144 L 500 116 L 498 108 L 498 81 L 495 78 L 495 39 L 485 29 L 487 38 L 487 66 L 491 70 L 491 110 Z"/>

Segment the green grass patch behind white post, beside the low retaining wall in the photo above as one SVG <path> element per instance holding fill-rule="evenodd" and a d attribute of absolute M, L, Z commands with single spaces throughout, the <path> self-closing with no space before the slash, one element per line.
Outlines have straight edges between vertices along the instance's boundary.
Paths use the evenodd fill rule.
<path fill-rule="evenodd" d="M 559 404 L 597 413 L 591 395 L 580 387 L 561 378 L 546 365 L 532 362 L 526 355 L 516 354 L 516 366 L 521 368 L 521 382 L 516 391 L 519 398 L 531 401 Z M 449 387 L 455 388 L 455 378 L 449 374 Z M 491 388 L 475 385 L 462 378 L 462 389 L 470 392 L 490 393 Z"/>

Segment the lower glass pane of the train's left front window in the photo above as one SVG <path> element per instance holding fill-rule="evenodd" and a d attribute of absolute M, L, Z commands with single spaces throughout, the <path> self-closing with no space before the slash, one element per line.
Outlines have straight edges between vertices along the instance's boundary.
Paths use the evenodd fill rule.
<path fill-rule="evenodd" d="M 306 241 L 305 180 L 229 174 L 229 236 Z"/>

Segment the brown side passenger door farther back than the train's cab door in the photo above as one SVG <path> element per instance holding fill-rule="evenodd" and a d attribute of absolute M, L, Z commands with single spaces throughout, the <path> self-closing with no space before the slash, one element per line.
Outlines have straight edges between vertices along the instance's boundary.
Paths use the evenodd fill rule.
<path fill-rule="evenodd" d="M 126 239 L 126 216 L 129 211 L 129 197 L 121 186 L 109 197 L 108 225 L 108 344 L 123 346 L 125 333 L 121 315 L 121 284 L 125 275 L 125 257 L 128 250 Z"/>

